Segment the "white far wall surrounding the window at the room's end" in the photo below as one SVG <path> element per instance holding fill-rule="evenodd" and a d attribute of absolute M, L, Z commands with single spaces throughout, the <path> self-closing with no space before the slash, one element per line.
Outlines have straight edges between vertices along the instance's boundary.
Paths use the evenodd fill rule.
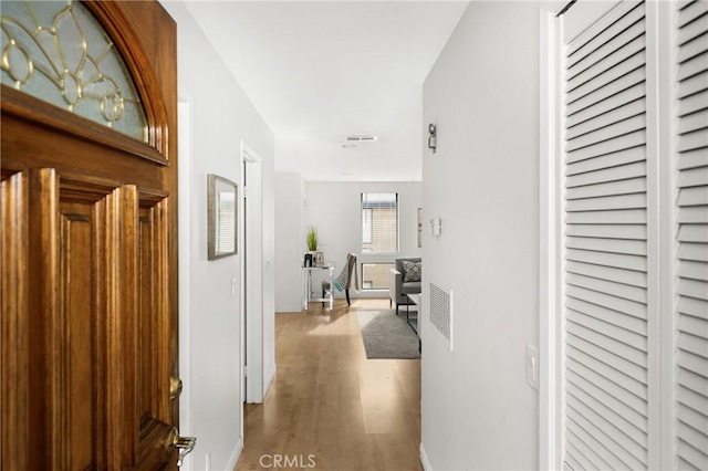
<path fill-rule="evenodd" d="M 362 254 L 362 192 L 398 193 L 398 254 Z M 325 261 L 337 264 L 337 269 L 334 271 L 335 276 L 344 266 L 348 252 L 357 254 L 360 266 L 362 262 L 386 262 L 398 257 L 420 257 L 423 251 L 417 245 L 417 210 L 421 206 L 423 187 L 417 181 L 308 181 L 305 184 L 306 226 L 317 228 L 320 241 L 317 250 L 324 253 Z M 306 247 L 303 241 L 300 247 L 300 257 L 305 251 Z M 336 292 L 335 295 L 337 297 L 344 296 L 343 293 Z M 388 291 L 356 293 L 350 290 L 350 296 L 388 297 Z"/>

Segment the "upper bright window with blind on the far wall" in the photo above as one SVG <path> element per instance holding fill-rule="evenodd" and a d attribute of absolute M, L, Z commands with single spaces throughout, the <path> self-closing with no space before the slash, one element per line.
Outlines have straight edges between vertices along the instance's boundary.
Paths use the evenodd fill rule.
<path fill-rule="evenodd" d="M 398 193 L 362 193 L 362 253 L 398 252 Z"/>

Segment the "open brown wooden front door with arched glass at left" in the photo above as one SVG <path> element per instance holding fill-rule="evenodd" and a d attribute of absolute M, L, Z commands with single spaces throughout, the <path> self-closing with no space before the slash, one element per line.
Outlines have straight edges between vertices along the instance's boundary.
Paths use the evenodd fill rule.
<path fill-rule="evenodd" d="M 56 44 L 79 38 L 79 52 L 55 54 L 2 4 L 0 468 L 174 468 L 176 24 L 157 1 L 64 7 L 53 20 L 39 6 L 28 17 Z M 104 52 L 74 24 L 86 12 Z M 134 81 L 143 139 L 118 129 L 125 85 L 96 72 L 110 49 Z M 63 87 L 63 109 L 31 96 L 31 78 Z M 91 105 L 98 122 L 77 114 Z"/>

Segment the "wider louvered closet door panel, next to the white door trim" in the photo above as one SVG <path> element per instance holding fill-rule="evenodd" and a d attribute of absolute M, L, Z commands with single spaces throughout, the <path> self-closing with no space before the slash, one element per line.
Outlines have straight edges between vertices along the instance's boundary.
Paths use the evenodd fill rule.
<path fill-rule="evenodd" d="M 589 28 L 564 39 L 564 465 L 573 470 L 647 468 L 644 17 L 644 3 L 625 1 L 598 21 L 581 18 Z"/>

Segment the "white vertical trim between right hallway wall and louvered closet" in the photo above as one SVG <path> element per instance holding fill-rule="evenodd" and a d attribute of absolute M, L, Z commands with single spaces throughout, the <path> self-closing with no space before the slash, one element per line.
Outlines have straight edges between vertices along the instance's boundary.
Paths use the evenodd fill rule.
<path fill-rule="evenodd" d="M 539 469 L 563 464 L 564 271 L 561 214 L 564 210 L 561 171 L 562 27 L 556 18 L 570 0 L 539 11 Z"/>

